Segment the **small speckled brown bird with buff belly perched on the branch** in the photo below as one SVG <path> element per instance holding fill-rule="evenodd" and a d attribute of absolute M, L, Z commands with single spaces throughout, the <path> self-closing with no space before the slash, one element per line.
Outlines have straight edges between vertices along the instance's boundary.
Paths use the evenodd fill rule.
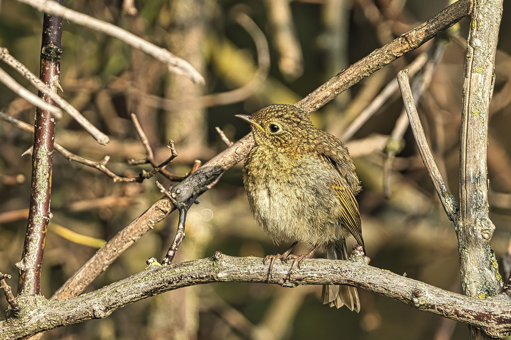
<path fill-rule="evenodd" d="M 312 258 L 323 248 L 328 259 L 347 260 L 346 237 L 365 253 L 355 195 L 361 191 L 353 158 L 334 135 L 317 129 L 304 110 L 272 104 L 252 115 L 235 115 L 250 124 L 255 145 L 243 164 L 243 183 L 255 221 L 276 244 L 292 242 L 273 262 Z M 291 255 L 303 242 L 313 250 Z M 291 266 L 291 271 L 293 269 Z M 323 285 L 323 304 L 360 311 L 355 287 Z"/>

